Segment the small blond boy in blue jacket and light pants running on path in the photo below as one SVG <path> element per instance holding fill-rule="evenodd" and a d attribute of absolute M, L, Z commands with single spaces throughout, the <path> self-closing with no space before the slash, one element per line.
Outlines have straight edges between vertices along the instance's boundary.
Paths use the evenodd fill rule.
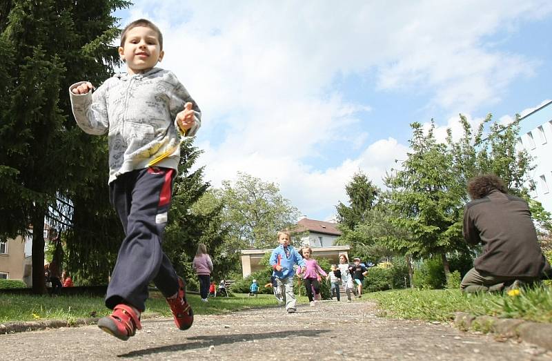
<path fill-rule="evenodd" d="M 277 246 L 272 254 L 268 263 L 273 268 L 273 276 L 276 277 L 278 283 L 278 290 L 282 293 L 282 297 L 286 300 L 286 310 L 288 313 L 294 313 L 295 309 L 295 294 L 293 293 L 293 276 L 295 270 L 293 266 L 297 264 L 302 267 L 302 272 L 306 270 L 306 264 L 303 257 L 299 255 L 299 252 L 290 246 L 290 233 L 288 231 L 278 232 Z"/>

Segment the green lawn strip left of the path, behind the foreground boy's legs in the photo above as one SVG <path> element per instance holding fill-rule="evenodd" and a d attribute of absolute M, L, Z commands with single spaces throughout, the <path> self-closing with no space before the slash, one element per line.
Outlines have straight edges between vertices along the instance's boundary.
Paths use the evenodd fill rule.
<path fill-rule="evenodd" d="M 249 297 L 237 293 L 235 297 L 215 297 L 201 302 L 199 295 L 188 295 L 196 315 L 228 313 L 244 309 L 276 306 L 274 295 Z M 304 301 L 302 301 L 304 302 Z M 103 304 L 103 297 L 0 294 L 0 322 L 68 320 L 103 317 L 110 310 Z M 150 292 L 143 318 L 155 315 L 170 317 L 170 310 L 164 297 L 157 291 Z"/>

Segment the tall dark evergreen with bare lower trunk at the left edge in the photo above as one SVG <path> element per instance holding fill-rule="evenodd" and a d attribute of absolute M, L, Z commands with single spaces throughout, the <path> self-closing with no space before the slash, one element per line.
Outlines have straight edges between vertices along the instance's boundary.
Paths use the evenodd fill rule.
<path fill-rule="evenodd" d="M 0 234 L 25 235 L 32 225 L 35 293 L 45 291 L 44 218 L 58 197 L 92 191 L 82 185 L 95 178 L 102 154 L 69 116 L 68 86 L 110 75 L 119 32 L 111 12 L 128 4 L 12 0 L 0 8 Z"/>

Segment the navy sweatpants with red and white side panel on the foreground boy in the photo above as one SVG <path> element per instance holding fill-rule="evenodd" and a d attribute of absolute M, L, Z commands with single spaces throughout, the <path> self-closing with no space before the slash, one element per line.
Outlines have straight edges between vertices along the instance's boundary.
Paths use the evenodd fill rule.
<path fill-rule="evenodd" d="M 109 309 L 126 303 L 144 311 L 152 280 L 165 297 L 178 291 L 175 269 L 161 249 L 175 173 L 170 168 L 144 168 L 110 184 L 110 201 L 126 237 L 108 285 Z"/>

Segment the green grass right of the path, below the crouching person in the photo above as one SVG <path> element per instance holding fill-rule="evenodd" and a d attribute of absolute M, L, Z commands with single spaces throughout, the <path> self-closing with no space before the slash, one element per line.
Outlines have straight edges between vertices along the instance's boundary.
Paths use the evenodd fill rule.
<path fill-rule="evenodd" d="M 480 293 L 464 295 L 460 290 L 401 290 L 367 293 L 376 300 L 382 315 L 430 321 L 453 320 L 455 312 L 552 322 L 552 288 L 542 287 L 519 295 Z"/>

